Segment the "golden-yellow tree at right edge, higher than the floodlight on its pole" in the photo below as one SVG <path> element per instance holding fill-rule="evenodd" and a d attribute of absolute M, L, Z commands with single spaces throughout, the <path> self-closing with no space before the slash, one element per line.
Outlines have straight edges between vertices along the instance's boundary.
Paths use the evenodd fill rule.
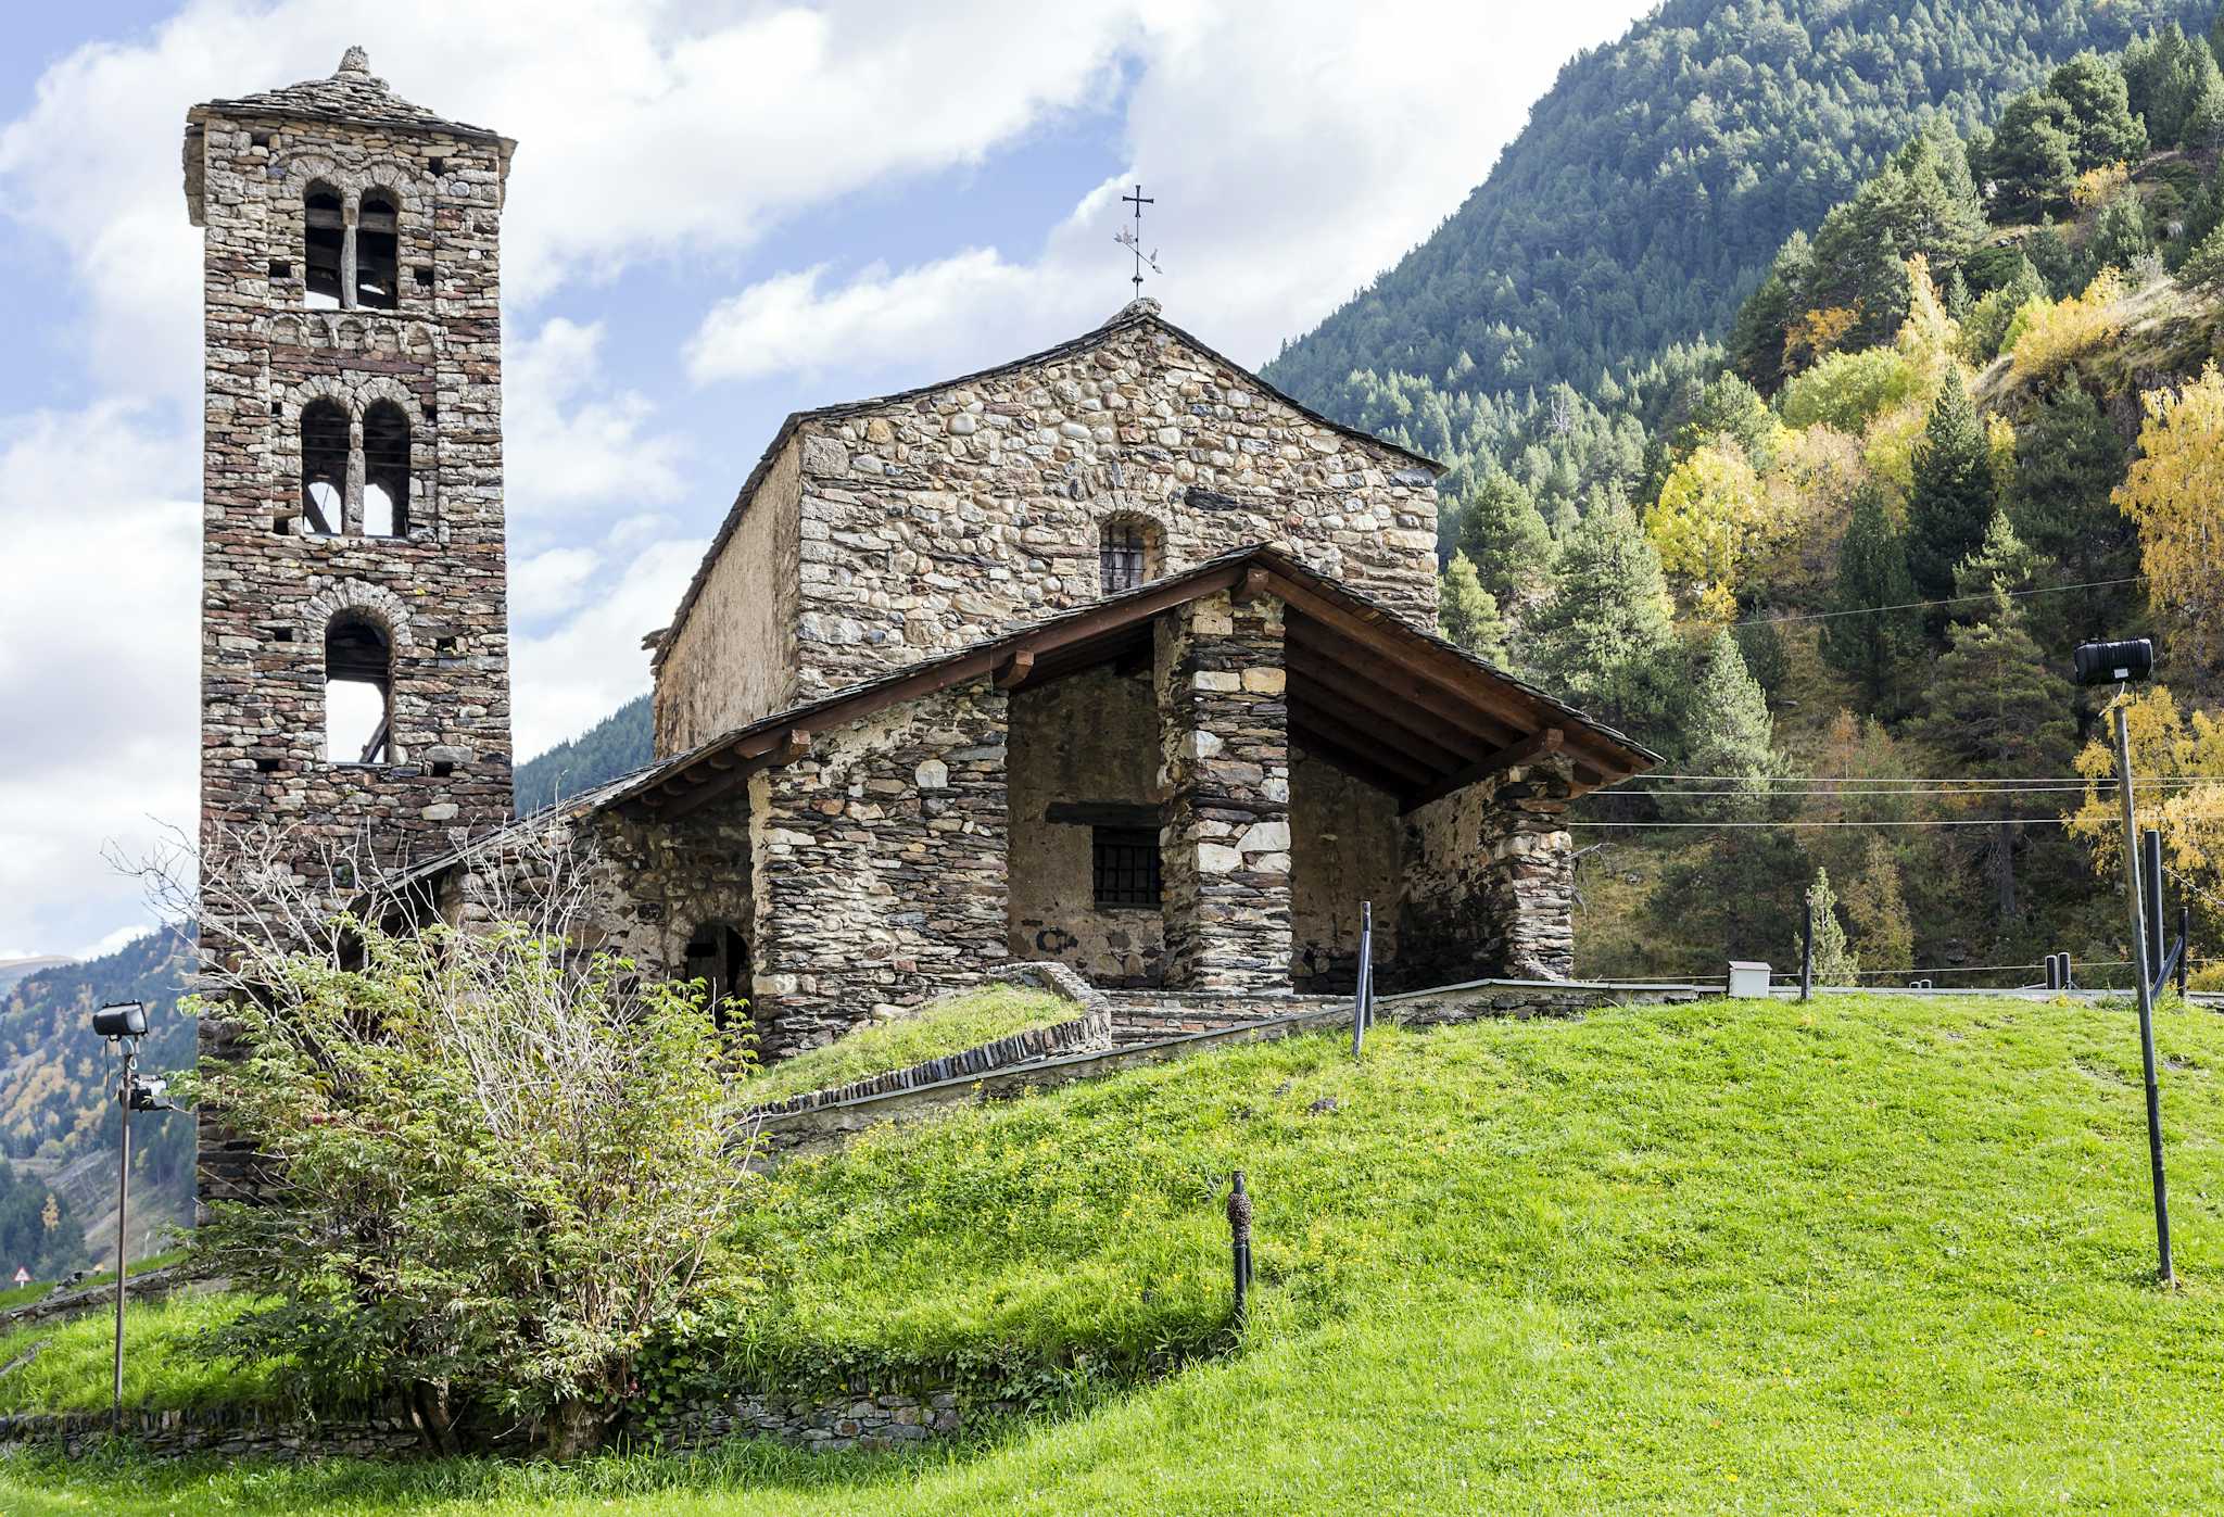
<path fill-rule="evenodd" d="M 2155 607 L 2184 636 L 2177 654 L 2224 652 L 2224 378 L 2211 363 L 2184 389 L 2142 396 L 2139 460 L 2115 487 L 2139 527 L 2139 567 Z"/>

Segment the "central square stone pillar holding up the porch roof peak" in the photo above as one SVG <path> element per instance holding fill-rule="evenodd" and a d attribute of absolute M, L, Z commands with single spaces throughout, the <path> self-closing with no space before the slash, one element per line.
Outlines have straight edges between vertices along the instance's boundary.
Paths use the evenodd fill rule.
<path fill-rule="evenodd" d="M 1165 983 L 1290 988 L 1290 707 L 1281 601 L 1156 623 Z"/>

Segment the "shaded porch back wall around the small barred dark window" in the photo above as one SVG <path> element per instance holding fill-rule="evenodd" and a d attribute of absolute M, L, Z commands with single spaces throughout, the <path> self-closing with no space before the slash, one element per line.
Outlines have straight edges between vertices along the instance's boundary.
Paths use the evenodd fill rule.
<path fill-rule="evenodd" d="M 1012 696 L 1014 959 L 1054 959 L 1096 985 L 1156 985 L 1156 908 L 1099 908 L 1094 827 L 1059 803 L 1150 807 L 1156 827 L 1159 703 L 1150 676 L 1088 670 Z"/>

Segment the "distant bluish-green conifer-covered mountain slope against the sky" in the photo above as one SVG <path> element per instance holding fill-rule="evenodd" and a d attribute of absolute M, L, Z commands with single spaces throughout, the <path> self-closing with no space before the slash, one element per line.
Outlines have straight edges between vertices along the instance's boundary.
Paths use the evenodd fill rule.
<path fill-rule="evenodd" d="M 1719 336 L 1795 227 L 1813 227 L 1926 113 L 1957 129 L 2084 47 L 2208 0 L 1670 0 L 1570 62 L 1468 202 L 1290 345 L 1265 376 L 1339 420 L 1401 432 L 1354 371 L 1448 394 L 1590 389 Z"/>

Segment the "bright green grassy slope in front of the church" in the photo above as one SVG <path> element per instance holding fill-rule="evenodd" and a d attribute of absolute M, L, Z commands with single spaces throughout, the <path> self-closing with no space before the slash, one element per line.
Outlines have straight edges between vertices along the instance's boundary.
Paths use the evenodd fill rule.
<path fill-rule="evenodd" d="M 2220 1510 L 2224 1019 L 1826 999 L 1248 1045 L 787 1166 L 745 1355 L 1234 1352 L 910 1459 L 0 1464 L 16 1513 Z M 1334 1110 L 1312 1110 L 1332 1099 Z"/>

